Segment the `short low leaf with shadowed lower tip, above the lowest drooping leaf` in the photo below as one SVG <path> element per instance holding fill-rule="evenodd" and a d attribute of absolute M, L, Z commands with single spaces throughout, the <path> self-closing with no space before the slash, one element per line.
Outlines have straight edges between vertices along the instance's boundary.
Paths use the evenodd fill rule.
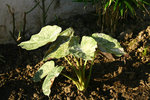
<path fill-rule="evenodd" d="M 55 66 L 54 61 L 48 61 L 45 64 L 43 64 L 40 69 L 35 73 L 33 77 L 34 82 L 40 81 L 42 78 L 44 78 L 48 73 L 53 70 Z"/>

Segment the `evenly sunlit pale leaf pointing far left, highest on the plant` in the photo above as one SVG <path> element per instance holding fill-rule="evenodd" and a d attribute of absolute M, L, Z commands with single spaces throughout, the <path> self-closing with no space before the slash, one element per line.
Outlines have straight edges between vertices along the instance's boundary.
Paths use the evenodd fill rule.
<path fill-rule="evenodd" d="M 19 46 L 26 50 L 37 49 L 41 46 L 44 46 L 48 42 L 55 41 L 60 32 L 61 27 L 59 26 L 45 26 L 41 29 L 41 31 L 38 34 L 32 35 L 29 41 L 22 42 L 19 44 Z"/>

